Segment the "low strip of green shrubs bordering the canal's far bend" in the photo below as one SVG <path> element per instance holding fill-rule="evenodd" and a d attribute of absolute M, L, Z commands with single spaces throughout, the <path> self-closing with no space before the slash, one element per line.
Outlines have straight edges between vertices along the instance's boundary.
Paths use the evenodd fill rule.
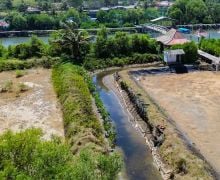
<path fill-rule="evenodd" d="M 130 64 L 145 64 L 159 62 L 162 58 L 155 54 L 138 54 L 134 53 L 129 57 L 97 59 L 95 57 L 87 57 L 83 66 L 88 70 L 103 69 L 107 67 L 121 67 Z"/>

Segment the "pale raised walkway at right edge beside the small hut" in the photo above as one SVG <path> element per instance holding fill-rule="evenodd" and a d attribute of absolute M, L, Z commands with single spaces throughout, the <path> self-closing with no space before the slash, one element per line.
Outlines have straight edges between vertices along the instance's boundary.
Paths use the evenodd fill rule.
<path fill-rule="evenodd" d="M 198 55 L 208 61 L 210 64 L 215 66 L 215 70 L 218 71 L 220 68 L 220 57 L 213 56 L 209 53 L 206 53 L 202 50 L 198 50 Z"/>

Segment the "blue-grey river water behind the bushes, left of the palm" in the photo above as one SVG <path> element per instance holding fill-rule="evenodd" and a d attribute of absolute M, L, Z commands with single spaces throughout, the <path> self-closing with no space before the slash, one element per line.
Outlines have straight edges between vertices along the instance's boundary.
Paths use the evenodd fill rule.
<path fill-rule="evenodd" d="M 8 37 L 8 38 L 0 38 L 0 42 L 3 46 L 8 47 L 10 45 L 17 45 L 21 43 L 25 43 L 30 40 L 31 37 Z M 43 42 L 48 43 L 49 36 L 39 36 Z"/>

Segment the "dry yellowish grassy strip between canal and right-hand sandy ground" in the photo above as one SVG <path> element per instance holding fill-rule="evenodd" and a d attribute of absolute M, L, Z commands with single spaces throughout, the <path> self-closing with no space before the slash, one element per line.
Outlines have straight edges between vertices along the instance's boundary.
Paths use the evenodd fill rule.
<path fill-rule="evenodd" d="M 213 179 L 209 166 L 195 153 L 190 151 L 181 137 L 178 135 L 175 127 L 167 120 L 166 112 L 154 102 L 154 100 L 139 87 L 128 75 L 128 71 L 119 73 L 122 80 L 148 104 L 147 123 L 150 126 L 165 126 L 165 141 L 159 147 L 159 153 L 165 163 L 174 170 L 177 179 Z"/>

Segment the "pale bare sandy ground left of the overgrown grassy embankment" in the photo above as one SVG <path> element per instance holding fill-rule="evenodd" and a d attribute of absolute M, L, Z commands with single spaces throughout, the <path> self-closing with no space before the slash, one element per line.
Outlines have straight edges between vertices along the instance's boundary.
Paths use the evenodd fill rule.
<path fill-rule="evenodd" d="M 62 112 L 51 84 L 51 71 L 32 69 L 26 72 L 20 78 L 15 77 L 15 72 L 0 73 L 0 85 L 13 81 L 13 92 L 0 93 L 0 133 L 35 127 L 43 130 L 45 139 L 52 134 L 64 136 Z M 18 96 L 16 87 L 21 82 L 29 90 Z"/>

